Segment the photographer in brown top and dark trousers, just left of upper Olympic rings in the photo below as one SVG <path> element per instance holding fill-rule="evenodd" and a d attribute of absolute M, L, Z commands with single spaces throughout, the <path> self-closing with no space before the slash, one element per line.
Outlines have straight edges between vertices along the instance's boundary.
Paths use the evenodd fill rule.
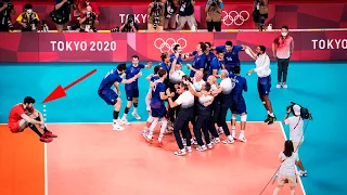
<path fill-rule="evenodd" d="M 207 13 L 207 30 L 221 31 L 221 10 L 224 4 L 222 0 L 208 0 L 206 3 L 205 12 Z"/>

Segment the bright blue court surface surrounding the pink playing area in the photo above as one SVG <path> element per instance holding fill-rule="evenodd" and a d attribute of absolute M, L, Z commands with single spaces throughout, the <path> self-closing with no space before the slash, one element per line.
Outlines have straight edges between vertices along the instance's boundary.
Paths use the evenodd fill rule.
<path fill-rule="evenodd" d="M 158 63 L 153 63 L 157 65 Z M 30 95 L 37 100 L 36 108 L 43 110 L 40 102 L 59 84 L 66 87 L 76 79 L 97 68 L 98 72 L 66 91 L 67 96 L 46 104 L 47 122 L 111 122 L 113 108 L 98 95 L 98 88 L 105 74 L 117 63 L 42 63 L 1 64 L 0 66 L 0 122 L 5 123 L 11 107 Z M 254 67 L 254 63 L 242 63 L 242 75 Z M 144 98 L 149 90 L 145 76 L 153 70 L 143 70 L 139 79 L 139 114 L 144 121 L 147 117 Z M 292 62 L 288 69 L 288 89 L 275 89 L 277 64 L 272 63 L 272 89 L 270 100 L 278 120 L 282 120 L 290 102 L 308 107 L 313 116 L 305 132 L 300 158 L 308 170 L 303 178 L 308 195 L 343 195 L 347 179 L 343 165 L 347 165 L 344 151 L 345 115 L 347 110 L 346 73 L 347 62 Z M 188 72 L 185 72 L 188 73 Z M 257 76 L 246 77 L 248 92 L 245 93 L 248 120 L 261 121 L 267 113 L 257 93 Z M 126 104 L 124 86 L 123 107 Z M 131 112 L 131 110 L 130 110 Z M 129 121 L 133 120 L 129 115 Z M 288 135 L 288 128 L 285 127 Z M 279 152 L 283 148 L 280 147 Z M 278 156 L 273 156 L 277 158 Z M 275 170 L 275 168 L 274 168 Z M 272 176 L 269 176 L 269 179 Z M 265 183 L 266 185 L 266 183 Z"/>

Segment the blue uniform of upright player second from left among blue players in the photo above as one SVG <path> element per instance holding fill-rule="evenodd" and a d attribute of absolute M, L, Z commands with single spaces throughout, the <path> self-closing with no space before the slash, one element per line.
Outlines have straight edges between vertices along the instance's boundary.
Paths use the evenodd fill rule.
<path fill-rule="evenodd" d="M 126 69 L 126 79 L 131 79 L 136 75 L 140 73 L 142 68 L 145 66 L 143 64 L 139 64 L 138 66 L 130 65 Z M 125 86 L 126 95 L 128 101 L 132 101 L 133 98 L 139 98 L 139 79 L 136 81 L 128 83 Z"/>

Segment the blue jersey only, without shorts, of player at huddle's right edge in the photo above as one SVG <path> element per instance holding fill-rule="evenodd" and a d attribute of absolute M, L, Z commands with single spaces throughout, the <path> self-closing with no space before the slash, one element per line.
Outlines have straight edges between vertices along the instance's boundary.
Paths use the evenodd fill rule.
<path fill-rule="evenodd" d="M 244 101 L 242 92 L 247 92 L 247 80 L 244 77 L 239 75 L 230 74 L 230 79 L 235 83 L 235 87 L 232 89 L 232 99 L 234 102 Z"/>

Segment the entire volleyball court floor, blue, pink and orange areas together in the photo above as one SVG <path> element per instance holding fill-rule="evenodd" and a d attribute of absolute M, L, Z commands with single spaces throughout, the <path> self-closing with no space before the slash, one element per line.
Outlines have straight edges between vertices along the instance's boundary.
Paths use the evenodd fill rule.
<path fill-rule="evenodd" d="M 254 66 L 243 63 L 243 75 Z M 248 110 L 246 128 L 247 143 L 217 144 L 215 148 L 187 156 L 175 156 L 177 144 L 172 134 L 164 138 L 164 147 L 152 146 L 140 135 L 147 117 L 144 95 L 147 81 L 144 77 L 152 70 L 144 70 L 139 83 L 141 121 L 133 122 L 125 131 L 113 131 L 110 123 L 112 107 L 105 105 L 97 94 L 101 79 L 115 64 L 16 64 L 1 66 L 0 90 L 0 194 L 1 195 L 108 195 L 108 194 L 249 194 L 258 195 L 271 180 L 280 166 L 278 155 L 283 151 L 288 130 L 280 122 L 268 126 L 261 121 L 266 116 L 258 100 L 256 76 L 247 77 L 248 92 L 245 93 Z M 76 84 L 67 96 L 50 102 L 43 107 L 40 102 L 57 84 L 69 84 L 83 74 L 98 68 L 90 78 Z M 305 132 L 305 144 L 300 158 L 309 177 L 299 180 L 297 194 L 342 194 L 345 178 L 337 167 L 344 159 L 333 159 L 345 148 L 343 140 L 343 114 L 346 109 L 344 74 L 346 63 L 292 63 L 290 88 L 272 88 L 271 100 L 278 120 L 285 115 L 291 101 L 310 108 L 314 120 Z M 273 81 L 275 83 L 275 66 Z M 39 77 L 27 83 L 27 73 Z M 322 80 L 334 78 L 334 84 Z M 13 77 L 16 75 L 16 77 Z M 301 79 L 297 79 L 301 78 Z M 305 78 L 305 79 L 303 79 Z M 319 84 L 316 84 L 319 83 Z M 120 86 L 120 89 L 124 89 Z M 125 108 L 124 91 L 120 94 Z M 59 135 L 52 143 L 38 141 L 30 130 L 11 133 L 5 125 L 11 107 L 33 95 L 36 108 L 44 112 L 48 127 Z M 325 113 L 322 112 L 324 109 Z M 132 110 L 130 110 L 131 114 Z M 326 113 L 335 113 L 326 115 Z M 229 116 L 230 118 L 230 116 Z M 321 122 L 326 120 L 329 122 Z M 326 130 L 330 133 L 326 134 Z M 236 132 L 239 131 L 236 126 Z M 156 131 L 157 132 L 157 131 Z M 320 135 L 325 134 L 322 138 Z M 334 139 L 331 135 L 334 136 Z M 224 138 L 222 135 L 222 138 Z M 324 144 L 318 144 L 324 141 Z M 270 184 L 262 194 L 272 194 L 275 184 Z M 281 194 L 288 194 L 285 186 Z"/>

